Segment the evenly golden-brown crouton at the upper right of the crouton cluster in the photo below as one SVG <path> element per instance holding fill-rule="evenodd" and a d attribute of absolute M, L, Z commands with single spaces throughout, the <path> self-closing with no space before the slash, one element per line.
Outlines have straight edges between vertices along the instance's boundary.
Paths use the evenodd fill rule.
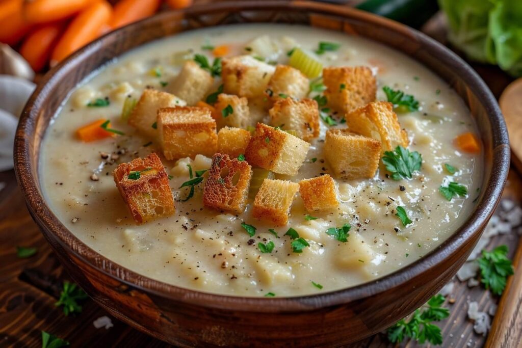
<path fill-rule="evenodd" d="M 372 70 L 365 66 L 324 68 L 323 83 L 328 105 L 343 113 L 373 102 L 377 93 Z"/>

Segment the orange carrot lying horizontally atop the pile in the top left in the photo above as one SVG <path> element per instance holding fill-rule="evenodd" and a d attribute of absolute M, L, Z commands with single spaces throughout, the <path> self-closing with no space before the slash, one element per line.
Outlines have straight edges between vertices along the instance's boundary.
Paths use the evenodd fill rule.
<path fill-rule="evenodd" d="M 31 23 L 46 23 L 79 13 L 98 0 L 34 0 L 23 7 L 23 15 Z"/>

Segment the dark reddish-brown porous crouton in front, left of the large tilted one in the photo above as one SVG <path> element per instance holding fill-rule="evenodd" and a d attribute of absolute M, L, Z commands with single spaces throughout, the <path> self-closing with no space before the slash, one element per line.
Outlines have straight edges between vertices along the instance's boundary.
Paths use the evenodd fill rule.
<path fill-rule="evenodd" d="M 252 167 L 246 161 L 231 159 L 227 154 L 214 154 L 203 190 L 203 204 L 218 210 L 242 213 L 251 177 Z"/>

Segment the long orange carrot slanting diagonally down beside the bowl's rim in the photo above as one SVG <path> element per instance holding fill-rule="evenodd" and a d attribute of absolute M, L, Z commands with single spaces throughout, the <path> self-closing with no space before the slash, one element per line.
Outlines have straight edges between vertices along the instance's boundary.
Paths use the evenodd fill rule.
<path fill-rule="evenodd" d="M 51 55 L 51 66 L 96 39 L 112 15 L 112 7 L 99 1 L 81 11 L 65 30 Z"/>

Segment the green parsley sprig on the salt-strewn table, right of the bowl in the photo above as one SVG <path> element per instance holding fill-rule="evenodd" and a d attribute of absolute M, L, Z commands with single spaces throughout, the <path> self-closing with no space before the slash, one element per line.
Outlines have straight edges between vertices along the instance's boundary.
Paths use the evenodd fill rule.
<path fill-rule="evenodd" d="M 492 251 L 482 250 L 477 259 L 480 267 L 480 281 L 495 295 L 501 295 L 506 287 L 506 278 L 513 274 L 513 265 L 507 258 L 507 246 L 501 245 Z"/>

